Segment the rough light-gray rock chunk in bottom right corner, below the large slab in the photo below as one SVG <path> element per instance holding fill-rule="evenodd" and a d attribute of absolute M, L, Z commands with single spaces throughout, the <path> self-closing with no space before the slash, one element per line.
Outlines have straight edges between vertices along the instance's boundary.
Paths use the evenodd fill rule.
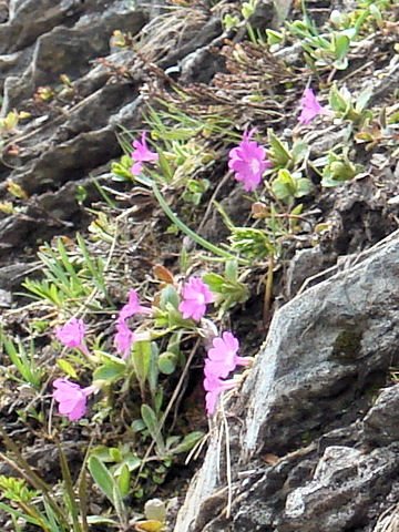
<path fill-rule="evenodd" d="M 398 448 L 369 454 L 348 447 L 327 448 L 313 480 L 288 494 L 279 530 L 337 532 L 360 524 L 376 495 L 388 491 L 390 482 L 383 487 L 385 479 L 398 470 Z"/>

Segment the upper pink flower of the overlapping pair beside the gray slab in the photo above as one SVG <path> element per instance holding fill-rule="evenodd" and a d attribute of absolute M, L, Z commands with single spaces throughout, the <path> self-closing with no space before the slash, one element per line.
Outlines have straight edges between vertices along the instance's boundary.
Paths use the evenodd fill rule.
<path fill-rule="evenodd" d="M 223 332 L 222 337 L 213 340 L 213 347 L 208 350 L 208 359 L 205 361 L 208 370 L 217 377 L 227 377 L 236 366 L 248 366 L 250 360 L 245 357 L 238 357 L 237 351 L 239 342 L 237 338 L 228 331 Z"/>

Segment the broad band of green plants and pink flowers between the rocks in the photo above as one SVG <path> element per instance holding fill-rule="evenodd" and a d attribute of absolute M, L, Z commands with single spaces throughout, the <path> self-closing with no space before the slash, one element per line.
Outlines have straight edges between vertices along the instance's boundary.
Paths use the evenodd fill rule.
<path fill-rule="evenodd" d="M 174 16 L 172 3 L 182 2 L 168 3 Z M 186 24 L 193 2 L 183 3 Z M 368 176 L 379 186 L 392 172 L 393 2 L 358 0 L 329 16 L 293 2 L 288 13 L 283 6 L 282 27 L 266 32 L 249 24 L 256 1 L 211 3 L 231 34 L 213 50 L 225 66 L 207 83 L 161 71 L 154 58 L 164 50 L 152 41 L 145 52 L 152 32 L 137 40 L 114 32 L 113 44 L 140 59 L 142 124 L 136 115 L 135 131 L 121 125 L 123 155 L 111 177 L 76 187 L 88 231 L 73 236 L 71 226 L 68 236 L 37 242 L 25 306 L 2 311 L 2 412 L 11 412 L 13 436 L 0 423 L 0 459 L 14 475 L 0 477 L 0 510 L 17 532 L 167 531 L 165 504 L 144 501 L 163 497 L 184 461 L 201 456 L 208 427 L 234 418 L 254 346 L 290 297 L 289 259 L 321 235 L 328 245 L 331 188 L 345 195 Z M 174 20 L 170 11 L 165 20 Z M 365 70 L 376 73 L 371 86 L 357 72 L 377 41 L 383 53 Z M 124 65 L 115 72 L 133 75 Z M 53 92 L 39 88 L 33 101 L 52 105 Z M 377 110 L 379 94 L 387 102 Z M 24 117 L 6 115 L 4 145 Z M 4 194 L 1 216 L 32 207 L 18 178 Z M 21 452 L 23 434 L 57 448 L 51 485 Z"/>

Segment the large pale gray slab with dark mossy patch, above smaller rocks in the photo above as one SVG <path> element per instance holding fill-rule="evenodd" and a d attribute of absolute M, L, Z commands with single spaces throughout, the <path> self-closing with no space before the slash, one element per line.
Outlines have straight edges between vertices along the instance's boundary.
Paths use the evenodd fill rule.
<path fill-rule="evenodd" d="M 396 237 L 277 311 L 241 393 L 242 457 L 289 448 L 299 431 L 326 426 L 351 406 L 371 374 L 386 372 L 399 336 L 398 260 Z"/>

